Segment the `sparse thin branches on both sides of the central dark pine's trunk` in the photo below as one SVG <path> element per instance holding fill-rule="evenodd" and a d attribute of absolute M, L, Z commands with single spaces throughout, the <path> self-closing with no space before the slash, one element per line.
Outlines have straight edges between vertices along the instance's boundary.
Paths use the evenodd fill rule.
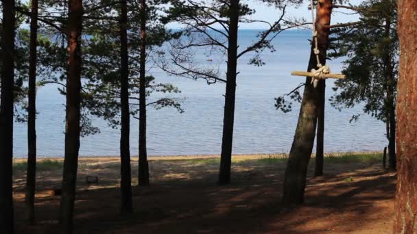
<path fill-rule="evenodd" d="M 246 48 L 237 48 L 237 60 L 243 55 L 249 55 L 249 64 L 262 66 L 261 53 L 265 50 L 274 52 L 272 40 L 282 31 L 300 25 L 305 21 L 292 21 L 285 15 L 286 5 L 300 3 L 298 0 L 259 1 L 259 3 L 274 5 L 278 9 L 276 21 L 268 23 L 261 18 L 254 18 L 255 10 L 250 8 L 248 1 L 237 1 L 238 27 L 243 24 L 265 23 L 267 29 L 259 31 L 257 38 Z M 219 67 L 224 64 L 230 42 L 230 12 L 233 5 L 230 1 L 184 1 L 172 0 L 166 18 L 182 25 L 182 36 L 171 42 L 167 53 L 160 56 L 160 66 L 172 75 L 189 79 L 205 79 L 208 84 L 226 82 Z M 195 61 L 198 51 L 204 51 L 211 64 L 201 64 Z M 169 56 L 167 56 L 168 54 Z M 169 57 L 169 58 L 167 58 Z"/>

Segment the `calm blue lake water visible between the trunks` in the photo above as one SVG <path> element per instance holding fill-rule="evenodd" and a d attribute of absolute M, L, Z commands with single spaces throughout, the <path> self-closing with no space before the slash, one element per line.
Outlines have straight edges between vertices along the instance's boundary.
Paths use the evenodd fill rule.
<path fill-rule="evenodd" d="M 242 30 L 240 48 L 245 48 L 257 34 L 256 30 Z M 292 77 L 291 70 L 305 70 L 309 60 L 310 31 L 287 31 L 274 41 L 276 52 L 263 54 L 265 66 L 248 65 L 250 56 L 239 60 L 233 153 L 287 153 L 294 137 L 299 105 L 287 114 L 274 107 L 274 98 L 281 96 L 305 81 L 305 77 Z M 200 56 L 203 56 L 200 54 Z M 208 57 L 210 58 L 210 57 Z M 201 57 L 200 57 L 201 59 Z M 207 59 L 208 60 L 208 59 Z M 206 61 L 206 60 L 204 60 Z M 342 67 L 340 60 L 329 62 L 333 73 Z M 174 83 L 182 91 L 172 97 L 185 98 L 180 114 L 175 109 L 148 111 L 149 155 L 219 154 L 222 140 L 224 90 L 223 83 L 208 86 L 206 81 L 193 81 L 170 77 L 158 69 L 151 70 L 159 82 Z M 326 94 L 333 94 L 333 81 L 327 82 Z M 161 94 L 151 97 L 157 98 Z M 56 86 L 38 90 L 38 155 L 60 157 L 64 155 L 64 96 Z M 342 112 L 326 104 L 326 131 L 324 149 L 338 151 L 379 151 L 388 144 L 385 125 L 370 116 L 361 116 L 350 123 L 361 107 Z M 119 130 L 107 126 L 104 120 L 94 124 L 101 133 L 81 140 L 82 156 L 119 155 Z M 138 154 L 138 120 L 131 119 L 131 154 Z M 27 155 L 26 125 L 14 128 L 14 153 Z"/>

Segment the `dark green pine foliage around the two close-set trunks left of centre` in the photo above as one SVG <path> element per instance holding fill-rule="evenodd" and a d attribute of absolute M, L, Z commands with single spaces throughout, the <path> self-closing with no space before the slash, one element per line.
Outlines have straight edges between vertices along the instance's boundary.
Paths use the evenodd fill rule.
<path fill-rule="evenodd" d="M 147 1 L 147 63 L 151 64 L 152 55 L 157 47 L 178 36 L 176 32 L 167 30 L 160 12 L 165 1 Z M 139 45 L 141 44 L 139 5 L 136 1 L 128 1 L 128 53 L 129 53 L 129 86 L 131 114 L 139 112 Z M 96 10 L 91 20 L 86 22 L 83 41 L 83 69 L 85 77 L 83 104 L 86 114 L 99 116 L 107 120 L 109 125 L 117 128 L 120 125 L 120 38 L 119 38 L 119 5 L 112 5 Z M 97 21 L 97 18 L 103 20 Z M 166 18 L 165 18 L 166 20 Z M 182 112 L 180 100 L 169 97 L 152 99 L 152 92 L 178 93 L 180 90 L 170 83 L 157 83 L 156 78 L 147 77 L 147 98 L 149 106 L 156 109 L 174 107 Z"/>

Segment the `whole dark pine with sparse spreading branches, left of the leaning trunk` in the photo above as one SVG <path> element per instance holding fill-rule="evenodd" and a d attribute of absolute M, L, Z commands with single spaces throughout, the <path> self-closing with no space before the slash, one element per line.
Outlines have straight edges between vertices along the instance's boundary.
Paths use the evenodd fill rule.
<path fill-rule="evenodd" d="M 281 15 L 278 20 L 268 25 L 265 31 L 260 31 L 257 40 L 249 47 L 239 49 L 238 29 L 243 23 L 253 23 L 256 19 L 250 18 L 254 10 L 249 8 L 245 1 L 211 0 L 196 3 L 195 1 L 171 1 L 169 17 L 184 25 L 183 36 L 171 43 L 169 55 L 171 62 L 161 62 L 163 69 L 172 75 L 188 77 L 191 79 L 206 79 L 208 84 L 226 83 L 224 100 L 224 120 L 222 135 L 222 153 L 219 168 L 220 185 L 230 183 L 233 125 L 235 121 L 235 96 L 237 86 L 237 63 L 239 58 L 247 53 L 254 52 L 250 63 L 261 66 L 261 52 L 265 49 L 274 51 L 271 41 L 285 29 L 297 27 L 303 22 L 292 23 L 284 19 L 285 3 L 293 1 L 264 1 L 275 4 Z M 298 1 L 297 1 L 298 2 Z M 219 28 L 213 25 L 218 24 Z M 204 66 L 194 60 L 196 49 L 207 49 L 212 56 L 219 60 L 225 57 L 226 77 L 219 74 L 218 66 Z"/>

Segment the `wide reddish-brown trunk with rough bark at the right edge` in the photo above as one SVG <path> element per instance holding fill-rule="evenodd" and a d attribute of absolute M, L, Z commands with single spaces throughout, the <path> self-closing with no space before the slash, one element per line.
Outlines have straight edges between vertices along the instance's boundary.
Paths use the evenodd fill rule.
<path fill-rule="evenodd" d="M 394 233 L 417 233 L 417 1 L 398 1 L 400 65 Z"/>

